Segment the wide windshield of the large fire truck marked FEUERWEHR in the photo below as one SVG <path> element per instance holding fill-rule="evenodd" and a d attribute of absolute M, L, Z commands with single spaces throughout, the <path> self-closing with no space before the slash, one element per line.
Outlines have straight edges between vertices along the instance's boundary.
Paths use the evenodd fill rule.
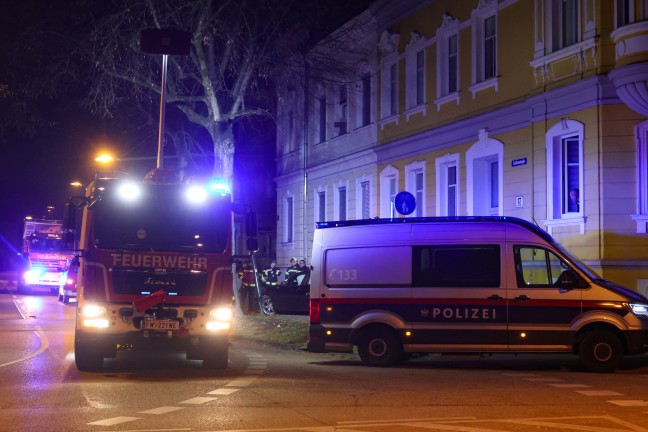
<path fill-rule="evenodd" d="M 101 249 L 221 253 L 231 228 L 229 197 L 187 201 L 182 186 L 142 185 L 135 201 L 104 192 L 92 206 L 93 244 Z"/>

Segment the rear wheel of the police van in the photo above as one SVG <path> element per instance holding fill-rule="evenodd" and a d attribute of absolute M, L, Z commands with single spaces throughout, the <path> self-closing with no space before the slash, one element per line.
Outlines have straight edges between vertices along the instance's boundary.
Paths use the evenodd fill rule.
<path fill-rule="evenodd" d="M 402 350 L 398 336 L 390 328 L 368 329 L 358 340 L 358 354 L 368 366 L 391 366 L 398 363 Z"/>

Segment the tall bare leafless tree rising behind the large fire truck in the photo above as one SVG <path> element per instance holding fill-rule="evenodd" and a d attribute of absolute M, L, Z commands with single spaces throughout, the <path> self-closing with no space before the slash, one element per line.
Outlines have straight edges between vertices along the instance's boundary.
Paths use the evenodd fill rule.
<path fill-rule="evenodd" d="M 161 56 L 139 50 L 145 28 L 177 28 L 193 34 L 189 56 L 170 56 L 169 106 L 203 127 L 213 142 L 213 174 L 231 179 L 234 123 L 270 115 L 270 70 L 290 31 L 294 5 L 272 0 L 116 0 L 82 45 L 96 68 L 88 105 L 114 115 L 133 99 L 153 103 L 160 93 Z M 158 58 L 160 57 L 160 58 Z"/>

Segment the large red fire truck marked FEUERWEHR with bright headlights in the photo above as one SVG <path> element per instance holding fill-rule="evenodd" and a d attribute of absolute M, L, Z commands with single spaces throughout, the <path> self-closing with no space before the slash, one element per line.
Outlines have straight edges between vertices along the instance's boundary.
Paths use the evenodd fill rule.
<path fill-rule="evenodd" d="M 233 310 L 232 203 L 222 182 L 157 168 L 144 180 L 97 175 L 81 212 L 74 334 L 79 370 L 118 351 L 181 351 L 227 367 Z M 70 211 L 71 210 L 71 211 Z"/>

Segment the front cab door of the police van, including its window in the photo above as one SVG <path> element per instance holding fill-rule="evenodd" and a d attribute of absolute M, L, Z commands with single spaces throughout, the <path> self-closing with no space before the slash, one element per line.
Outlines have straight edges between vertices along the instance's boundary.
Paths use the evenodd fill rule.
<path fill-rule="evenodd" d="M 570 324 L 582 313 L 584 281 L 551 249 L 510 243 L 509 345 L 512 351 L 571 351 Z"/>

